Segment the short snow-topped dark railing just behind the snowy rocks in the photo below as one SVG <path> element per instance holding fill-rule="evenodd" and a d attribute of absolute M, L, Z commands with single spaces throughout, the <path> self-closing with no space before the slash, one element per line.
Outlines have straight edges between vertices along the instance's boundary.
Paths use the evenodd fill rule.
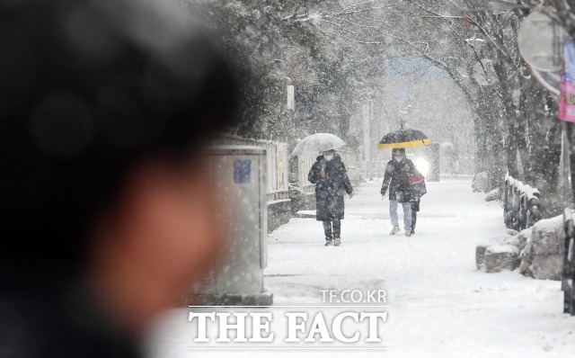
<path fill-rule="evenodd" d="M 505 176 L 503 219 L 507 228 L 521 231 L 543 218 L 541 193 L 510 175 Z"/>

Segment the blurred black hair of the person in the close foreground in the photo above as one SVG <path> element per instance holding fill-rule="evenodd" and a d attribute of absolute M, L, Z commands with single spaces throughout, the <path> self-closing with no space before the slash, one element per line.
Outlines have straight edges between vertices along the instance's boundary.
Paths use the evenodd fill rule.
<path fill-rule="evenodd" d="M 0 0 L 1 264 L 76 267 L 130 166 L 186 157 L 234 121 L 232 72 L 184 13 Z"/>

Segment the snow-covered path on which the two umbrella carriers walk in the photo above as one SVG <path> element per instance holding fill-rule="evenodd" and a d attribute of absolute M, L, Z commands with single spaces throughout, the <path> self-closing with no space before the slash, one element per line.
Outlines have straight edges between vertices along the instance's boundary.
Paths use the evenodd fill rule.
<path fill-rule="evenodd" d="M 499 203 L 483 201 L 482 194 L 471 192 L 468 180 L 428 183 L 417 234 L 392 237 L 389 201 L 381 201 L 380 184 L 361 185 L 358 195 L 346 202 L 343 244 L 339 247 L 323 246 L 322 225 L 314 219 L 292 219 L 270 235 L 265 286 L 273 292 L 275 305 L 322 305 L 322 290 L 385 290 L 389 317 L 380 336 L 387 356 L 572 355 L 575 318 L 562 314 L 559 282 L 535 281 L 517 272 L 487 274 L 475 268 L 475 245 L 505 233 Z M 293 354 L 190 351 L 186 318 L 187 310 L 183 309 L 173 310 L 164 318 L 155 332 L 150 355 Z M 303 350 L 298 354 L 375 357 L 382 352 Z"/>

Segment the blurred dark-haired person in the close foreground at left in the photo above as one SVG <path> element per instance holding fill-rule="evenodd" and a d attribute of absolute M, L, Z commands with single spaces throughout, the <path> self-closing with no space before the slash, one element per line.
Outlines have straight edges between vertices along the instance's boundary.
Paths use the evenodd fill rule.
<path fill-rule="evenodd" d="M 0 356 L 137 357 L 224 235 L 238 87 L 163 2 L 0 0 Z"/>

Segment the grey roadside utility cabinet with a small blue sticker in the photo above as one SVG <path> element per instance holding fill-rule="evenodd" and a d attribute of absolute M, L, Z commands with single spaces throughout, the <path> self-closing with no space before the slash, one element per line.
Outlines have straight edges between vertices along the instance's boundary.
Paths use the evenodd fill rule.
<path fill-rule="evenodd" d="M 192 287 L 187 304 L 206 306 L 270 306 L 273 295 L 264 291 L 267 266 L 266 150 L 248 146 L 208 149 L 208 170 L 217 178 L 221 209 L 230 234 L 220 268 Z"/>

